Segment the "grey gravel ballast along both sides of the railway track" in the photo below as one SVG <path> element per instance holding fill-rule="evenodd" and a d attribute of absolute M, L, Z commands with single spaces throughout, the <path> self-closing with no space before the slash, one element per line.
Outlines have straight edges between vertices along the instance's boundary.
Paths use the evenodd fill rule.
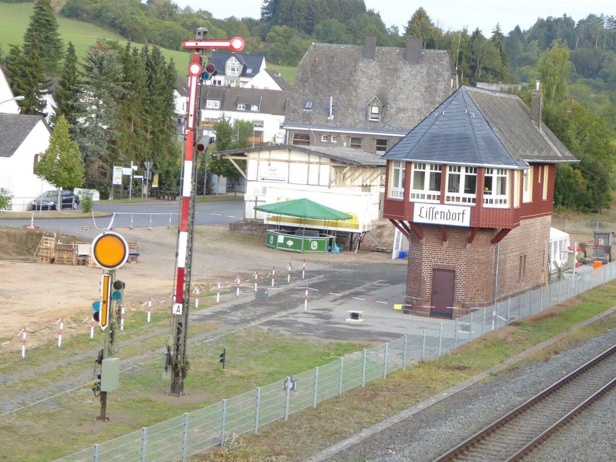
<path fill-rule="evenodd" d="M 616 329 L 545 362 L 498 373 L 331 456 L 334 461 L 431 461 L 616 344 Z M 527 460 L 612 461 L 616 391 L 535 449 Z"/>

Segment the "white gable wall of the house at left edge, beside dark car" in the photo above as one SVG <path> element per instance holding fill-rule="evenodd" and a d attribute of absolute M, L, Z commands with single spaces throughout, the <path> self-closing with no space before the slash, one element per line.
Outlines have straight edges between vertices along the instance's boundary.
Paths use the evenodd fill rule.
<path fill-rule="evenodd" d="M 0 157 L 0 187 L 12 193 L 15 211 L 29 209 L 30 201 L 38 197 L 41 190 L 55 189 L 33 172 L 34 155 L 45 152 L 50 136 L 43 121 L 39 121 L 12 156 Z"/>

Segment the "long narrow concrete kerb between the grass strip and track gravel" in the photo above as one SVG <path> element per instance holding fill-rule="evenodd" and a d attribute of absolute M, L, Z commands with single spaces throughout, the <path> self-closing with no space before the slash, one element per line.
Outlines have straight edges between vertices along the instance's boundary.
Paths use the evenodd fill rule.
<path fill-rule="evenodd" d="M 546 347 L 551 346 L 552 344 L 556 343 L 557 341 L 561 340 L 562 338 L 564 338 L 565 336 L 569 335 L 572 332 L 575 332 L 576 330 L 582 328 L 582 327 L 586 327 L 588 325 L 591 325 L 594 322 L 597 322 L 598 320 L 601 320 L 604 317 L 609 316 L 610 314 L 613 314 L 614 312 L 616 312 L 616 306 L 611 307 L 610 309 L 602 312 L 601 314 L 598 314 L 590 319 L 587 319 L 586 321 L 573 326 L 572 328 L 554 336 L 551 339 L 548 339 L 544 342 L 541 342 L 529 349 L 527 349 L 526 351 L 509 358 L 508 360 L 503 361 L 502 363 L 496 365 L 493 368 L 490 368 L 488 370 L 483 371 L 482 373 L 471 377 L 467 380 L 465 380 L 464 382 L 461 382 L 459 384 L 456 384 L 452 387 L 449 387 L 447 390 L 445 390 L 444 392 L 441 392 L 437 395 L 432 396 L 431 398 L 424 400 L 421 403 L 418 403 L 414 406 L 411 406 L 410 408 L 407 408 L 405 410 L 403 410 L 402 412 L 391 416 L 387 419 L 384 419 L 383 421 L 376 423 L 368 428 L 363 429 L 362 431 L 356 433 L 354 436 L 351 436 L 347 439 L 344 439 L 312 456 L 310 456 L 309 458 L 307 458 L 305 460 L 305 462 L 320 462 L 320 461 L 324 461 L 327 460 L 328 458 L 336 455 L 337 453 L 345 450 L 346 448 L 351 447 L 352 445 L 355 445 L 357 443 L 362 442 L 362 440 L 371 437 L 375 434 L 377 434 L 380 431 L 383 431 L 384 429 L 387 429 L 401 421 L 403 421 L 404 419 L 407 419 L 417 413 L 419 413 L 420 411 L 423 411 L 424 409 L 441 402 L 444 399 L 447 399 L 448 397 L 463 391 L 464 389 L 488 378 L 490 375 L 492 375 L 493 373 L 496 372 L 500 372 L 506 368 L 508 368 L 509 366 L 517 363 L 517 362 L 521 362 L 522 360 L 526 359 L 527 357 L 529 357 L 532 354 L 537 353 L 538 351 L 541 351 L 543 349 L 545 349 Z M 436 359 L 436 358 L 435 358 Z"/>

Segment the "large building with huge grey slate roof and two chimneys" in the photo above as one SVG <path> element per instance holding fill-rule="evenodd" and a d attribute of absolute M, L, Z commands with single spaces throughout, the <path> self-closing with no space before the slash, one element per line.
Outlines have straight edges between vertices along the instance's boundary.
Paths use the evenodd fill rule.
<path fill-rule="evenodd" d="M 289 144 L 384 153 L 458 87 L 447 51 L 312 44 L 286 111 Z"/>

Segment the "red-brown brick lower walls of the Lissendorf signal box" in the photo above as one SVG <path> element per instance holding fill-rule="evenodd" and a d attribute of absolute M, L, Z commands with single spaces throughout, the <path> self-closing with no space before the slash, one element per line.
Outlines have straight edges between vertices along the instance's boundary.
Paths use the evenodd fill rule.
<path fill-rule="evenodd" d="M 505 299 L 543 283 L 547 264 L 550 217 L 521 222 L 501 240 L 497 299 Z M 495 229 L 480 229 L 468 244 L 468 228 L 448 227 L 443 242 L 439 226 L 418 224 L 419 241 L 411 234 L 408 252 L 406 301 L 417 309 L 429 306 L 432 296 L 432 270 L 455 271 L 453 306 L 468 309 L 494 302 L 496 246 L 490 243 Z M 456 310 L 466 314 L 467 310 Z"/>

